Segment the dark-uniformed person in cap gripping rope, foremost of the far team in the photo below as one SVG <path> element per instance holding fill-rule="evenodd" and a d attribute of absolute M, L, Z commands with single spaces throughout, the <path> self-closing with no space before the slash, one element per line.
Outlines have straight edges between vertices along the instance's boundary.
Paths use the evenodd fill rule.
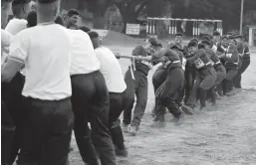
<path fill-rule="evenodd" d="M 132 50 L 132 56 L 141 56 L 150 58 L 151 55 L 158 51 L 158 41 L 155 38 L 150 38 L 146 46 L 137 46 Z M 152 63 L 148 62 L 131 62 L 128 71 L 125 75 L 127 83 L 128 101 L 124 108 L 123 126 L 124 131 L 131 135 L 135 135 L 138 130 L 140 121 L 144 114 L 147 102 L 147 75 L 152 69 Z M 131 110 L 134 103 L 134 94 L 136 95 L 136 104 L 134 107 L 133 117 L 131 119 Z"/>

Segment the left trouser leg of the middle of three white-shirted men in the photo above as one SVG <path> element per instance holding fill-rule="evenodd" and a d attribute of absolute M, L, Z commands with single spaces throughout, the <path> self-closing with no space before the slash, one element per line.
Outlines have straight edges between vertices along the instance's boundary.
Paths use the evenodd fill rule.
<path fill-rule="evenodd" d="M 75 114 L 74 132 L 80 155 L 85 163 L 98 165 L 96 150 L 92 142 L 90 121 L 90 104 L 95 93 L 94 80 L 91 75 L 73 76 L 72 107 Z"/>

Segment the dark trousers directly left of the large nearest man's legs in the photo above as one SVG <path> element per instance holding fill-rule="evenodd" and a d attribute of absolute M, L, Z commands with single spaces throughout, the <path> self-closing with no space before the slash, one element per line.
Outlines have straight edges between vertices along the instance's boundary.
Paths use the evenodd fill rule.
<path fill-rule="evenodd" d="M 21 139 L 23 134 L 24 117 L 26 110 L 22 108 L 22 88 L 25 83 L 25 77 L 20 73 L 10 83 L 2 83 L 2 98 L 9 110 L 10 116 L 16 130 L 14 133 L 13 142 L 10 149 L 9 164 L 13 164 L 21 147 Z"/>

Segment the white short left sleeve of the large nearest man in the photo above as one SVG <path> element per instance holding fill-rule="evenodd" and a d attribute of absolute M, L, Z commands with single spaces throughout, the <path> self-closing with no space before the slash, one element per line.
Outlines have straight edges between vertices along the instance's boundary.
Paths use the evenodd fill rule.
<path fill-rule="evenodd" d="M 24 63 L 28 57 L 30 41 L 27 34 L 21 32 L 14 36 L 10 49 L 9 59 Z"/>

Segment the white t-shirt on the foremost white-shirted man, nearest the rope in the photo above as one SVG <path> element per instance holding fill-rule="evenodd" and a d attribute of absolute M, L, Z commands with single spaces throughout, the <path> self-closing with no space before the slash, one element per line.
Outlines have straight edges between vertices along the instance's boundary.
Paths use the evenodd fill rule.
<path fill-rule="evenodd" d="M 127 88 L 119 61 L 113 52 L 106 47 L 95 50 L 101 62 L 100 72 L 103 74 L 110 92 L 123 92 Z"/>

